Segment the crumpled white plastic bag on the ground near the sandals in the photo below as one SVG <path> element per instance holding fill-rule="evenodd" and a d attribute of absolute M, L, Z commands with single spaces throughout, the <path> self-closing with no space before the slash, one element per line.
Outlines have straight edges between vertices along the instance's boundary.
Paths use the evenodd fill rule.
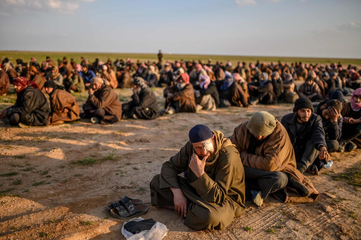
<path fill-rule="evenodd" d="M 130 221 L 142 221 L 144 220 L 144 218 L 139 217 L 139 218 L 132 218 L 130 219 L 128 222 Z M 142 232 L 139 232 L 139 234 L 132 234 L 131 232 L 128 232 L 124 225 L 127 222 L 123 223 L 123 227 L 122 227 L 122 234 L 125 236 L 125 238 L 127 240 L 161 240 L 163 237 L 165 237 L 165 235 L 168 234 L 168 228 L 160 222 L 156 222 L 153 227 L 151 228 L 151 230 L 144 230 Z"/>

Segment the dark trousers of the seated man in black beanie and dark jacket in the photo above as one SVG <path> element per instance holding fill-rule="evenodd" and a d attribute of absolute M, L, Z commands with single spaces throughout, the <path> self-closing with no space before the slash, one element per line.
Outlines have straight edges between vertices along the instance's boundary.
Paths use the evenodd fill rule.
<path fill-rule="evenodd" d="M 319 154 L 319 150 L 317 150 L 312 141 L 309 140 L 306 144 L 305 148 L 296 148 L 295 156 L 297 169 L 304 173 L 306 169 L 315 161 Z"/>

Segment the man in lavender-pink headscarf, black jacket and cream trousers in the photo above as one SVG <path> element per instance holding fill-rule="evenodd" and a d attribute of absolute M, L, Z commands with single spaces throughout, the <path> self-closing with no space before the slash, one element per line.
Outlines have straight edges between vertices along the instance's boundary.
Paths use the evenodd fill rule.
<path fill-rule="evenodd" d="M 201 75 L 200 83 L 195 87 L 196 104 L 199 110 L 216 110 L 219 105 L 219 94 L 215 82 L 208 75 Z M 200 108 L 201 106 L 202 108 Z"/>

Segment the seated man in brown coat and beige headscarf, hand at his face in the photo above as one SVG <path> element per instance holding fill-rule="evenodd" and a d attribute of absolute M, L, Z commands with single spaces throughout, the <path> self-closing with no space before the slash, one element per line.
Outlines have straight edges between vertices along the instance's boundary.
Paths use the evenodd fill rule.
<path fill-rule="evenodd" d="M 101 77 L 92 78 L 90 83 L 89 97 L 83 105 L 84 114 L 81 118 L 91 118 L 93 124 L 118 122 L 122 118 L 122 104 L 117 93 L 110 86 L 106 86 Z"/>

